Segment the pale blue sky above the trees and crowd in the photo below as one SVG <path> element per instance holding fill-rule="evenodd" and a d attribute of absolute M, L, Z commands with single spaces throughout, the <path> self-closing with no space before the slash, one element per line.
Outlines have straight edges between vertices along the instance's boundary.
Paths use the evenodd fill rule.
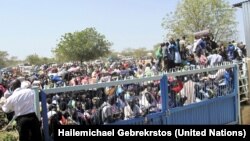
<path fill-rule="evenodd" d="M 146 47 L 164 41 L 163 17 L 179 0 L 0 0 L 0 50 L 25 59 L 52 57 L 61 35 L 87 27 L 106 36 L 112 50 Z M 243 0 L 228 0 L 231 4 Z M 241 9 L 239 40 L 244 39 Z"/>

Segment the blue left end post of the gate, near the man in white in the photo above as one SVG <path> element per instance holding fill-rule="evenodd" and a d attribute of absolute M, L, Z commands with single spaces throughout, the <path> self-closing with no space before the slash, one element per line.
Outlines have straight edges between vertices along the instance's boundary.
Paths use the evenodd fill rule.
<path fill-rule="evenodd" d="M 42 97 L 42 117 L 43 117 L 44 140 L 50 141 L 46 93 L 44 91 L 41 91 L 41 97 Z"/>

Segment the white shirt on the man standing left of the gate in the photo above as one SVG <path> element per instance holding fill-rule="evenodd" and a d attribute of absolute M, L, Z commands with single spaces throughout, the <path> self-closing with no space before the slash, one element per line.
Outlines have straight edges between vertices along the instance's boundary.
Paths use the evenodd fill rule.
<path fill-rule="evenodd" d="M 16 89 L 3 105 L 4 112 L 15 111 L 15 116 L 26 115 L 35 112 L 35 91 L 32 89 Z"/>

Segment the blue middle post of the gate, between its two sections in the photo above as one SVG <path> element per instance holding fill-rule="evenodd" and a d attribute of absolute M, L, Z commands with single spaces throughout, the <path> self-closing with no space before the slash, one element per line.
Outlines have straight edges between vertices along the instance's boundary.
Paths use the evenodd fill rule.
<path fill-rule="evenodd" d="M 162 99 L 162 112 L 166 113 L 168 110 L 168 78 L 166 75 L 163 75 L 160 82 L 161 89 L 161 99 Z M 166 124 L 166 119 L 164 119 L 164 124 Z"/>

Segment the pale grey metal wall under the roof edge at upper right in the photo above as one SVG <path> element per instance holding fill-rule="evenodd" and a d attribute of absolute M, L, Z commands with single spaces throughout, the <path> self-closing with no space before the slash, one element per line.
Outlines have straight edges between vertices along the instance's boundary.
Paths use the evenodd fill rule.
<path fill-rule="evenodd" d="M 247 45 L 247 57 L 250 57 L 250 1 L 242 3 L 242 10 Z"/>

